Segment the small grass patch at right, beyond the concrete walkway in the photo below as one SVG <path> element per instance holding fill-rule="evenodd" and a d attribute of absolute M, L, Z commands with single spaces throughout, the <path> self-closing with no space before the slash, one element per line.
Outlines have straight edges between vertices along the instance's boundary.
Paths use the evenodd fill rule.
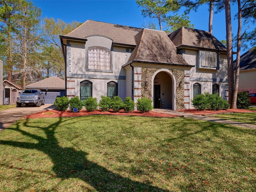
<path fill-rule="evenodd" d="M 256 113 L 254 112 L 253 113 L 223 113 L 223 114 L 211 115 L 210 117 L 256 125 Z"/>

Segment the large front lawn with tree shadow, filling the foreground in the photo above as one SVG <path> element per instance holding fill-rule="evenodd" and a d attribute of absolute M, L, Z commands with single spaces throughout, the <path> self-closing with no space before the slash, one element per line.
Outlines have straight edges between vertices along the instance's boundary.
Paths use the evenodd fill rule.
<path fill-rule="evenodd" d="M 188 118 L 21 119 L 0 132 L 0 191 L 252 192 L 255 135 Z"/>

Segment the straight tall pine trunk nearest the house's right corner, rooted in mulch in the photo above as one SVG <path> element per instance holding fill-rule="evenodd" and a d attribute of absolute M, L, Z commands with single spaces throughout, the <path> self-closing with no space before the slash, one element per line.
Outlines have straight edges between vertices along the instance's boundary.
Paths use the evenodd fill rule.
<path fill-rule="evenodd" d="M 226 39 L 227 39 L 227 59 L 228 59 L 228 102 L 230 108 L 234 108 L 234 64 L 233 64 L 233 48 L 232 48 L 232 27 L 231 27 L 231 11 L 230 0 L 225 0 L 226 14 Z"/>

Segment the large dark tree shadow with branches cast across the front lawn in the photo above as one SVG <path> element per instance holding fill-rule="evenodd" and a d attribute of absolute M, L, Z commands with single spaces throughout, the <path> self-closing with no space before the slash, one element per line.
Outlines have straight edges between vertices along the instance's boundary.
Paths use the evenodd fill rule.
<path fill-rule="evenodd" d="M 24 123 L 26 127 L 38 128 L 44 131 L 46 138 L 31 134 L 22 130 L 17 123 L 16 128 L 8 128 L 20 132 L 24 136 L 29 136 L 32 140 L 37 140 L 37 143 L 30 142 L 16 142 L 10 140 L 0 140 L 2 145 L 9 145 L 24 149 L 36 149 L 47 154 L 54 164 L 52 170 L 56 177 L 62 180 L 68 178 L 78 178 L 90 184 L 97 191 L 159 191 L 167 192 L 161 188 L 150 185 L 150 183 L 141 183 L 125 178 L 119 174 L 107 170 L 96 162 L 91 162 L 86 158 L 88 153 L 75 150 L 70 147 L 61 147 L 58 140 L 54 136 L 56 128 L 60 123 L 72 124 L 72 120 L 62 120 L 59 118 L 58 122 L 50 124 L 45 128 L 38 128 L 31 126 L 28 119 Z M 23 123 L 23 122 L 22 122 Z"/>

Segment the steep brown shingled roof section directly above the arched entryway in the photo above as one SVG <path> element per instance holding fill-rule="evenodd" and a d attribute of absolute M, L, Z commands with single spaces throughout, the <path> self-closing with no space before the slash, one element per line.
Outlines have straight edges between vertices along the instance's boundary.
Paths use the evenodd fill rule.
<path fill-rule="evenodd" d="M 190 66 L 177 54 L 177 49 L 165 32 L 143 29 L 135 36 L 136 48 L 132 52 L 130 62 L 150 62 Z"/>

